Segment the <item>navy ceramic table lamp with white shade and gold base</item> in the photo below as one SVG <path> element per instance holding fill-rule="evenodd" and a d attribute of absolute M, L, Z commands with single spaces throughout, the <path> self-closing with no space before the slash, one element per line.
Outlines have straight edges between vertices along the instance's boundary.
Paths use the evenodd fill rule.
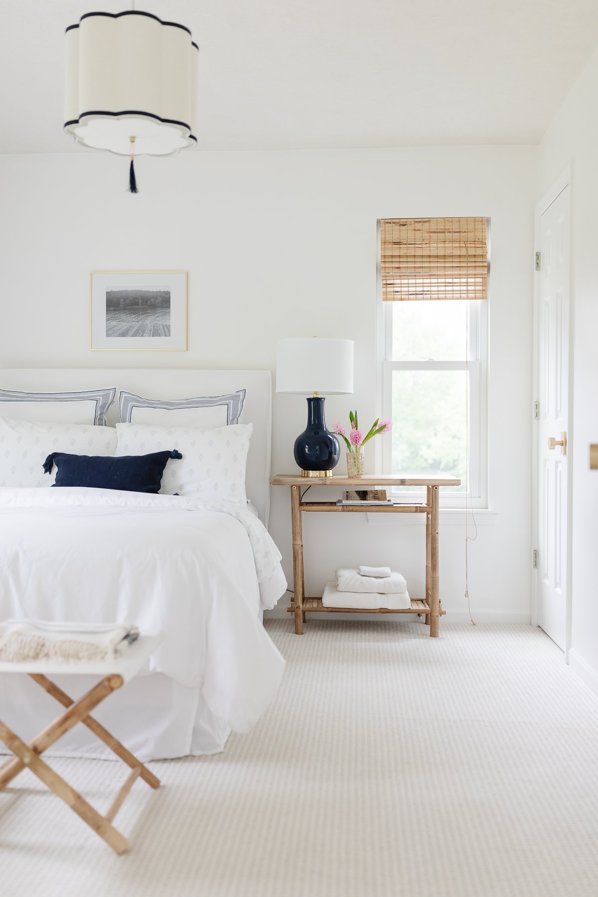
<path fill-rule="evenodd" d="M 302 476 L 332 476 L 341 457 L 334 433 L 326 429 L 320 393 L 353 391 L 353 341 L 308 336 L 282 339 L 276 349 L 276 392 L 308 398 L 308 426 L 295 440 L 294 455 Z"/>

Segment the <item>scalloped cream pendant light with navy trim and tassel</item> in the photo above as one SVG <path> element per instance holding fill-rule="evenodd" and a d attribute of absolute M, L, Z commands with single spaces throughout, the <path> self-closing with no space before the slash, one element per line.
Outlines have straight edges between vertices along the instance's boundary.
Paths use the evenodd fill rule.
<path fill-rule="evenodd" d="M 197 44 L 152 13 L 86 13 L 65 34 L 65 131 L 131 156 L 195 146 Z"/>

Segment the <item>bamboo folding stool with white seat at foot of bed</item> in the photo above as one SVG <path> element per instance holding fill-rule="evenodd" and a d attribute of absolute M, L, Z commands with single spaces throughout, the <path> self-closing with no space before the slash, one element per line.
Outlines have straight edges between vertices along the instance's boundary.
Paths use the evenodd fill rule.
<path fill-rule="evenodd" d="M 129 842 L 112 824 L 114 817 L 125 802 L 135 779 L 143 779 L 150 788 L 159 788 L 160 779 L 157 779 L 142 762 L 137 760 L 133 753 L 127 751 L 126 747 L 121 745 L 117 738 L 110 735 L 108 730 L 101 726 L 98 720 L 91 717 L 90 714 L 109 694 L 115 692 L 118 688 L 122 688 L 126 682 L 139 672 L 161 640 L 162 637 L 160 635 L 141 636 L 130 648 L 126 649 L 126 653 L 122 657 L 103 663 L 50 664 L 45 661 L 0 663 L 0 674 L 22 673 L 29 675 L 34 682 L 41 685 L 52 698 L 55 698 L 59 704 L 65 707 L 65 712 L 57 717 L 54 722 L 50 723 L 49 726 L 42 729 L 39 735 L 35 736 L 29 744 L 25 744 L 19 736 L 15 735 L 0 720 L 0 740 L 14 754 L 12 759 L 0 766 L 0 792 L 25 767 L 28 767 L 34 775 L 41 779 L 56 794 L 56 797 L 64 800 L 65 804 L 70 806 L 74 813 L 81 816 L 83 822 L 87 823 L 94 832 L 97 832 L 100 838 L 103 838 L 113 850 L 118 854 L 124 853 L 129 846 Z M 69 674 L 101 675 L 102 678 L 89 692 L 83 694 L 77 701 L 73 701 L 48 678 L 49 675 Z M 108 812 L 103 815 L 94 809 L 91 804 L 88 804 L 40 756 L 79 722 L 89 728 L 105 745 L 108 745 L 110 750 L 116 753 L 117 757 L 124 761 L 131 770 L 124 784 L 118 789 L 116 797 L 108 808 Z"/>

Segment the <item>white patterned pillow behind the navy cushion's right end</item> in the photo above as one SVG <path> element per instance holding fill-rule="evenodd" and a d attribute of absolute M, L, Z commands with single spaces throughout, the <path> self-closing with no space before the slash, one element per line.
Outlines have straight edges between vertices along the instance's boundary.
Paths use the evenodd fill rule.
<path fill-rule="evenodd" d="M 183 457 L 169 461 L 160 493 L 178 492 L 186 498 L 235 501 L 246 506 L 245 471 L 252 431 L 252 423 L 214 430 L 117 423 L 117 457 L 178 448 Z"/>

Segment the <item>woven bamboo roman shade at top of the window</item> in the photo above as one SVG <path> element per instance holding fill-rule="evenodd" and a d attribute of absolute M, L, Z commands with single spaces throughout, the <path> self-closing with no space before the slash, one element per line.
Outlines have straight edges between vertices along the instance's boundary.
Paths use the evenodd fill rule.
<path fill-rule="evenodd" d="M 486 218 L 380 222 L 382 299 L 486 299 Z"/>

